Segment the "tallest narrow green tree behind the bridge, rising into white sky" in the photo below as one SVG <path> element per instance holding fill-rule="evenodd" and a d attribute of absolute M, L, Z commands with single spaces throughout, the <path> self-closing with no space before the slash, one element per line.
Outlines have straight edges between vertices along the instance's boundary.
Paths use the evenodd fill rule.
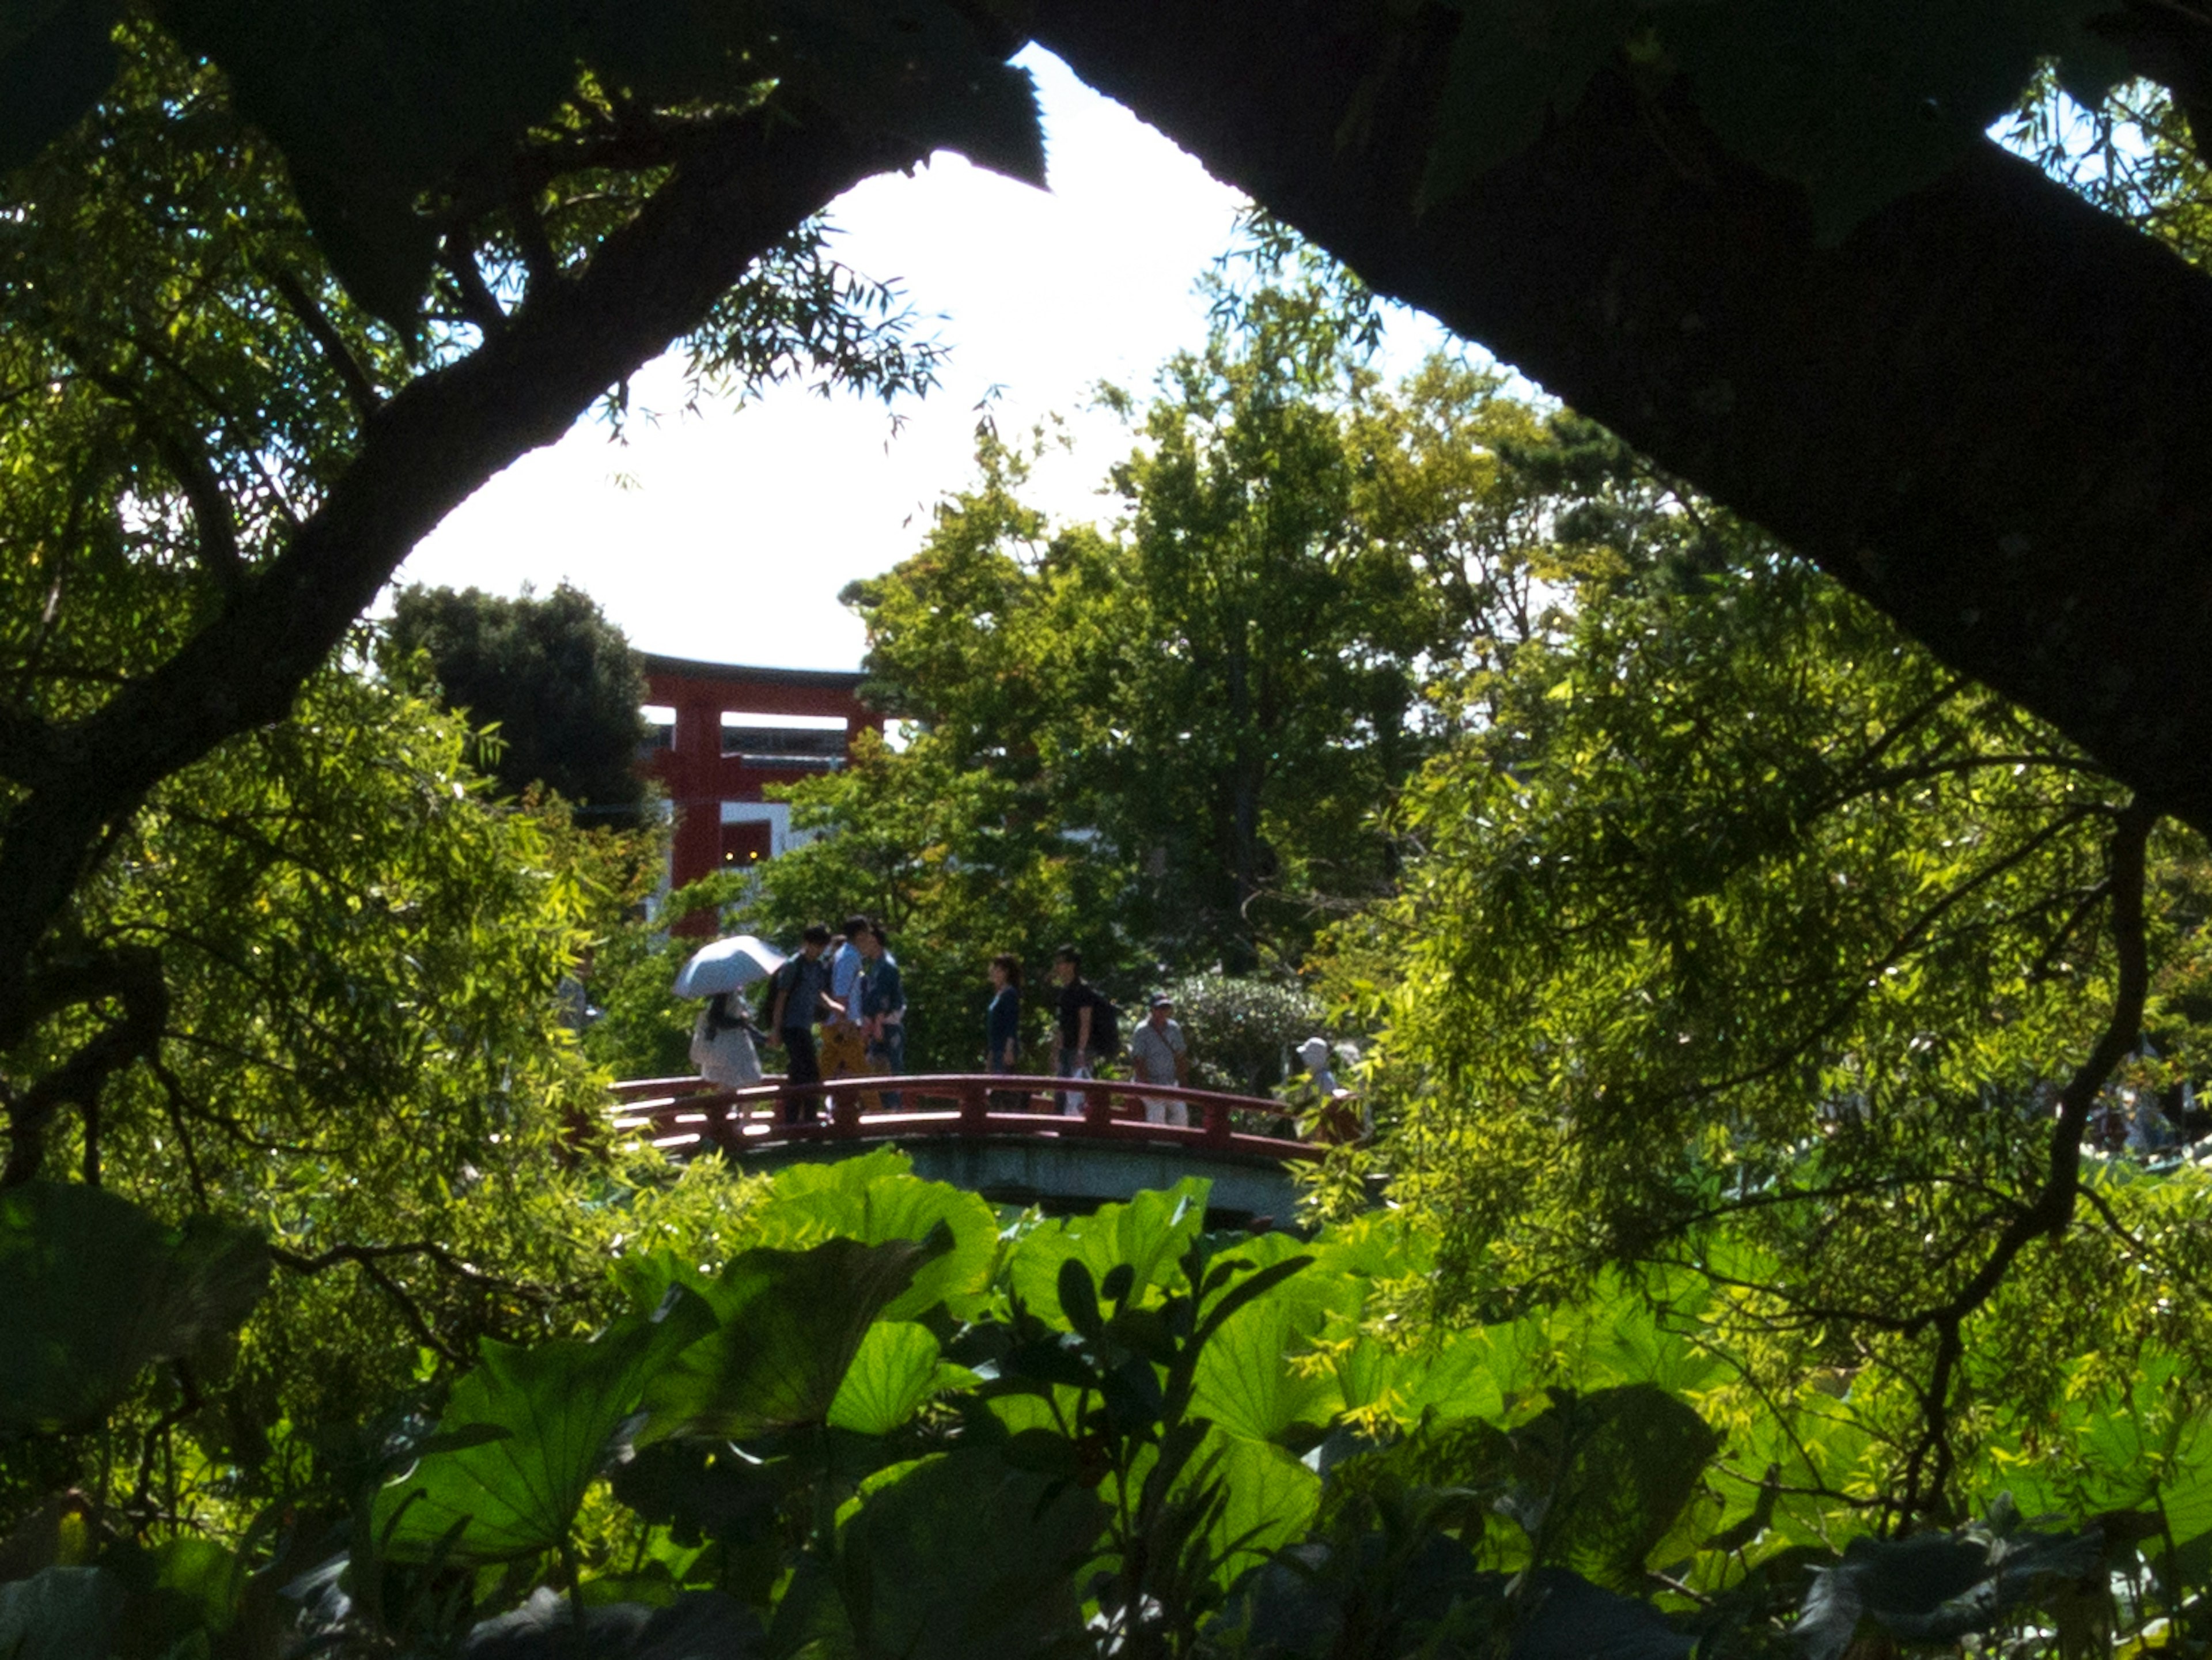
<path fill-rule="evenodd" d="M 1172 954 L 1239 972 L 1283 932 L 1270 901 L 1380 874 L 1369 817 L 1418 755 L 1418 660 L 1442 633 L 1409 549 L 1356 513 L 1347 409 L 1374 376 L 1327 301 L 1263 288 L 1170 359 L 1113 474 L 1113 633 L 1071 651 L 1077 788 L 1157 872 Z"/>

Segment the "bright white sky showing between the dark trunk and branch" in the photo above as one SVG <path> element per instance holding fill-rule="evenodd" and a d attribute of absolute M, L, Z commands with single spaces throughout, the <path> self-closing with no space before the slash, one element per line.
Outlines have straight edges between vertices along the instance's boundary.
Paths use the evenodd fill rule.
<path fill-rule="evenodd" d="M 1040 465 L 1033 500 L 1057 518 L 1113 513 L 1095 491 L 1128 438 L 1084 412 L 1088 387 L 1150 390 L 1170 352 L 1203 343 L 1192 283 L 1230 246 L 1241 197 L 1057 58 L 1022 62 L 1044 102 L 1048 195 L 940 155 L 832 208 L 838 259 L 894 279 L 918 332 L 951 347 L 938 390 L 900 405 L 896 438 L 880 403 L 803 385 L 743 409 L 633 416 L 626 447 L 586 421 L 484 485 L 398 580 L 515 593 L 566 578 L 641 651 L 852 668 L 865 642 L 838 589 L 911 553 L 927 507 L 973 476 L 991 387 L 1000 432 L 1060 412 L 1077 438 Z M 1385 361 L 1409 367 L 1442 339 L 1405 314 Z M 650 365 L 633 412 L 675 412 L 679 385 L 672 361 Z"/>

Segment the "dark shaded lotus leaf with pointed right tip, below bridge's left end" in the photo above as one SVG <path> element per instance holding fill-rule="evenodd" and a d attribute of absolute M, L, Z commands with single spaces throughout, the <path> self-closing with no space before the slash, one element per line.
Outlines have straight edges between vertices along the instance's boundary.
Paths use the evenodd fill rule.
<path fill-rule="evenodd" d="M 672 1434 L 730 1441 L 821 1423 L 867 1328 L 953 1248 L 942 1222 L 922 1242 L 827 1239 L 812 1251 L 768 1246 L 737 1257 L 706 1286 L 719 1321 L 646 1388 L 639 1443 Z"/>

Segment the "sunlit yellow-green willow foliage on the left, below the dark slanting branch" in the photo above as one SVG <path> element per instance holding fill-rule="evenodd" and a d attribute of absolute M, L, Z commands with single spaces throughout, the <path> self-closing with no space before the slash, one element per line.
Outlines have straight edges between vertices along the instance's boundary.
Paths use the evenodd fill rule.
<path fill-rule="evenodd" d="M 60 1459 L 88 1487 L 153 1503 L 175 1481 L 179 1514 L 223 1507 L 292 1481 L 305 1448 L 288 1425 L 378 1410 L 425 1348 L 591 1319 L 604 1233 L 582 1206 L 619 1177 L 555 989 L 650 850 L 577 832 L 557 803 L 489 806 L 465 744 L 425 699 L 334 671 L 296 719 L 157 792 L 86 881 L 82 945 L 157 954 L 157 1058 L 58 1133 L 49 1182 L 9 1189 L 0 1213 L 82 1213 L 51 1290 L 22 1293 L 22 1330 L 44 1297 L 71 1310 L 55 1319 L 144 1310 L 82 1410 L 15 1370 L 33 1350 L 4 1346 L 0 1370 L 38 1417 L 128 1394 L 133 1436 L 166 1428 L 157 1459 L 95 1436 L 0 1445 L 0 1503 Z M 9 1065 L 40 1076 L 82 1036 L 55 1020 Z M 102 1189 L 51 1186 L 71 1169 Z M 124 1200 L 195 1220 L 148 1233 L 95 1208 L 139 1215 Z M 206 1337 L 201 1304 L 237 1315 L 263 1284 L 237 1339 L 232 1319 Z"/>

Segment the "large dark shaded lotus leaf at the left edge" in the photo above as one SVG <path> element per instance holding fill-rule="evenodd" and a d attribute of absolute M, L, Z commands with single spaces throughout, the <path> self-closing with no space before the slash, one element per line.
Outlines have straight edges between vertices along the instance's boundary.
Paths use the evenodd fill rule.
<path fill-rule="evenodd" d="M 168 1228 L 80 1184 L 0 1193 L 0 1430 L 97 1428 L 148 1363 L 234 1330 L 268 1277 L 248 1228 Z"/>

